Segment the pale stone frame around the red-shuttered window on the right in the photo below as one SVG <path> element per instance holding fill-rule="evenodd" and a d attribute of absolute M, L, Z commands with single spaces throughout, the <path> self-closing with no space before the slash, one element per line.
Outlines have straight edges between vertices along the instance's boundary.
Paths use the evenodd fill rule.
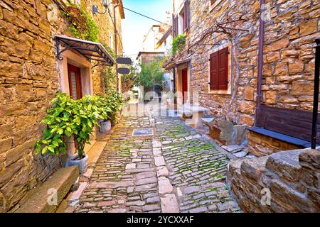
<path fill-rule="evenodd" d="M 212 55 L 214 52 L 218 52 L 219 50 L 223 50 L 224 48 L 228 48 L 229 55 L 228 55 L 228 89 L 225 90 L 211 90 L 210 89 L 210 55 Z M 208 52 L 208 93 L 209 94 L 231 94 L 232 91 L 232 84 L 233 84 L 233 70 L 232 70 L 232 55 L 233 52 L 231 51 L 231 43 L 226 43 L 224 45 L 221 45 L 218 48 L 215 48 Z"/>

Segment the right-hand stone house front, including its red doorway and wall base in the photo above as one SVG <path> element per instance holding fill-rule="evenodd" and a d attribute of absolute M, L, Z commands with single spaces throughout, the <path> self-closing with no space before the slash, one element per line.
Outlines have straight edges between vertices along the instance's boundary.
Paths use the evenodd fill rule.
<path fill-rule="evenodd" d="M 164 66 L 176 69 L 176 90 L 189 92 L 186 102 L 192 101 L 197 93 L 198 103 L 209 109 L 211 116 L 235 125 L 257 124 L 258 86 L 262 89 L 264 106 L 311 111 L 314 40 L 320 37 L 319 3 L 319 0 L 266 0 L 260 7 L 260 1 L 175 0 L 174 33 L 185 35 L 186 44 Z M 261 84 L 258 81 L 260 15 L 265 22 Z M 228 63 L 223 66 L 227 69 L 223 78 L 227 82 L 217 89 L 210 86 L 213 84 L 210 59 L 224 48 L 228 57 L 223 61 Z M 261 137 L 260 133 L 251 133 L 253 140 L 258 138 L 249 141 L 255 155 L 281 150 L 277 143 L 271 143 L 264 153 L 256 147 L 268 144 Z M 285 143 L 280 147 L 299 148 L 279 141 Z"/>

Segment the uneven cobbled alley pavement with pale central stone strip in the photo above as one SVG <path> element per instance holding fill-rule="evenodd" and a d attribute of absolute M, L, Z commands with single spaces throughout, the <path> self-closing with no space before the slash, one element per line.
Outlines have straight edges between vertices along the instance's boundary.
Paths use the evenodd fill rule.
<path fill-rule="evenodd" d="M 89 182 L 82 182 L 75 212 L 240 212 L 225 186 L 223 149 L 180 118 L 155 112 L 123 118 L 114 128 Z M 154 135 L 133 136 L 137 128 Z"/>

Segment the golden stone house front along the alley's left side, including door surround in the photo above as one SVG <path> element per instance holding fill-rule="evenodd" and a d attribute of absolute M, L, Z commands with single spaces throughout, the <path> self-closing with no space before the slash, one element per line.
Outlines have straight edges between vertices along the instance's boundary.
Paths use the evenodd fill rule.
<path fill-rule="evenodd" d="M 82 84 L 84 94 L 104 91 L 102 67 L 90 70 L 92 64 L 73 51 L 64 52 L 63 61 L 56 58 L 55 35 L 72 36 L 70 23 L 58 7 L 65 2 L 0 0 L 0 212 L 18 209 L 30 189 L 63 165 L 60 157 L 42 158 L 33 148 L 41 138 L 40 121 L 55 93 L 70 92 L 61 70 L 65 70 L 63 64 L 73 63 L 87 74 Z M 84 4 L 88 12 L 92 4 L 100 11 L 104 9 L 100 0 L 75 3 Z M 114 3 L 122 6 L 122 1 Z M 110 16 L 92 17 L 100 30 L 100 43 L 112 48 Z M 122 7 L 117 8 L 116 18 L 121 31 Z M 121 43 L 121 33 L 118 38 Z M 121 45 L 117 52 L 121 55 Z"/>

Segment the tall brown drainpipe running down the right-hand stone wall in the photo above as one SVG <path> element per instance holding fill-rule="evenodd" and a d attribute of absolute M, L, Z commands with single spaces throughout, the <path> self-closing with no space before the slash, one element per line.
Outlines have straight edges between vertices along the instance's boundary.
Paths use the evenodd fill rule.
<path fill-rule="evenodd" d="M 257 74 L 257 109 L 255 111 L 255 123 L 257 123 L 257 116 L 261 110 L 262 99 L 262 65 L 263 65 L 263 44 L 265 42 L 265 21 L 262 19 L 264 10 L 262 6 L 265 0 L 260 0 L 260 23 L 259 23 L 259 47 L 258 47 L 258 74 Z"/>

